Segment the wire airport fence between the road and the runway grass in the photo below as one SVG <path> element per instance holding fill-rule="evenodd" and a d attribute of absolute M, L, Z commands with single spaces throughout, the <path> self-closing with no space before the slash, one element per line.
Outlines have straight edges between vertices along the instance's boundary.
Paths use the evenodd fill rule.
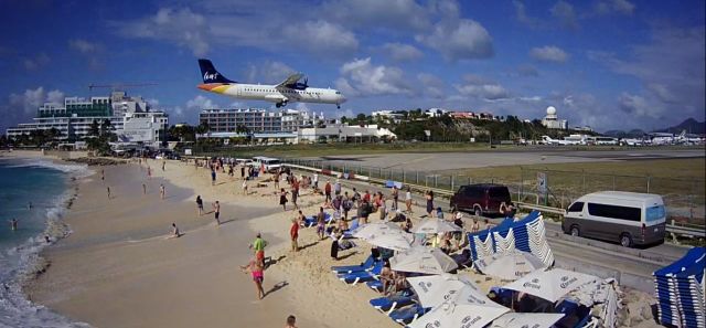
<path fill-rule="evenodd" d="M 470 177 L 456 172 L 405 170 L 355 163 L 336 163 L 319 159 L 285 159 L 285 162 L 322 170 L 393 180 L 417 188 L 452 193 L 460 186 L 499 183 L 507 186 L 514 201 L 566 209 L 577 198 L 597 191 L 630 191 L 661 194 L 667 215 L 683 223 L 704 225 L 706 181 L 698 179 L 600 174 L 586 171 L 547 170 L 520 167 L 520 173 L 502 177 Z M 515 168 L 516 169 L 516 168 Z M 542 187 L 544 184 L 544 187 Z"/>

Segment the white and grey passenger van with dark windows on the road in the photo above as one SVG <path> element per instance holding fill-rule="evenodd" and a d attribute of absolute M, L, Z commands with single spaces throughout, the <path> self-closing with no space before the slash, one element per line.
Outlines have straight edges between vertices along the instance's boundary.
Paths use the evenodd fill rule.
<path fill-rule="evenodd" d="M 565 233 L 620 242 L 625 247 L 664 241 L 666 210 L 659 194 L 601 191 L 569 205 L 561 222 Z"/>

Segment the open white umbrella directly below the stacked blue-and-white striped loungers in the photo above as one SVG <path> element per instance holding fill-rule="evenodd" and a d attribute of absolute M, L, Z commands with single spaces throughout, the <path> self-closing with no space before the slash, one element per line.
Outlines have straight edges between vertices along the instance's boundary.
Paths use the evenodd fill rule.
<path fill-rule="evenodd" d="M 539 257 L 522 251 L 495 254 L 477 260 L 473 264 L 483 274 L 505 281 L 516 281 L 532 272 L 546 268 L 546 264 Z"/>

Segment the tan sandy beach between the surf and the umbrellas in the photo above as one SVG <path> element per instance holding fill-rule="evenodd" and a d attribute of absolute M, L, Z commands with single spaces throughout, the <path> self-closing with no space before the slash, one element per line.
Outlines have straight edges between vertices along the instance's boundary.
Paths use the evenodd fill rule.
<path fill-rule="evenodd" d="M 51 265 L 25 287 L 31 300 L 94 327 L 282 327 L 289 315 L 297 316 L 298 327 L 399 327 L 368 305 L 379 294 L 345 285 L 330 272 L 332 265 L 362 262 L 370 254 L 365 242 L 340 252 L 343 260 L 336 262 L 329 256 L 330 240 L 302 229 L 303 250 L 292 253 L 289 226 L 296 211 L 282 211 L 271 182 L 261 188 L 250 182 L 250 193 L 243 195 L 239 170 L 238 178 L 218 172 L 211 186 L 210 171 L 193 163 L 167 161 L 164 171 L 161 161 L 149 166 L 151 179 L 145 165 L 129 163 L 96 167 L 95 174 L 77 181 L 78 197 L 66 219 L 73 233 L 43 252 Z M 221 202 L 222 225 L 213 213 L 197 214 L 196 194 L 206 212 Z M 314 214 L 322 202 L 322 195 L 301 191 L 304 214 Z M 172 222 L 183 236 L 169 237 Z M 268 241 L 266 256 L 274 260 L 261 300 L 249 274 L 239 269 L 253 256 L 248 244 L 256 232 Z M 503 285 L 462 274 L 486 290 Z M 641 300 L 637 310 L 649 306 L 644 295 L 632 297 Z"/>

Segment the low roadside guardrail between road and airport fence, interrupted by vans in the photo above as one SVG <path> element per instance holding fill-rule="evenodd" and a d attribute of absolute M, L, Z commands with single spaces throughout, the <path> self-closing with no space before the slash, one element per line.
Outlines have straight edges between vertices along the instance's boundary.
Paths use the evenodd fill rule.
<path fill-rule="evenodd" d="M 292 163 L 282 163 L 286 167 L 290 167 L 290 168 L 295 168 L 295 169 L 299 169 L 299 170 L 306 170 L 306 171 L 311 171 L 311 172 L 318 172 L 321 174 L 325 174 L 325 176 L 333 176 L 336 178 L 345 178 L 347 172 L 341 172 L 341 171 L 333 171 L 333 170 L 327 170 L 327 169 L 318 169 L 318 168 L 311 168 L 311 167 L 307 167 L 307 166 L 300 166 L 300 165 L 292 165 Z M 354 179 L 354 180 L 361 180 L 361 181 L 365 181 L 365 182 L 373 182 L 373 183 L 378 183 L 378 184 L 383 184 L 385 186 L 386 182 L 388 180 L 383 180 L 383 179 L 377 179 L 377 178 L 371 178 L 368 176 L 361 176 L 361 174 L 354 174 L 354 173 L 347 173 L 347 179 Z M 438 195 L 443 195 L 443 197 L 451 197 L 453 194 L 453 191 L 449 191 L 446 189 L 436 189 L 436 188 L 429 188 L 429 187 L 425 187 L 425 186 L 418 186 L 418 184 L 414 184 L 414 183 L 405 183 L 405 186 L 409 186 L 411 187 L 413 190 L 415 191 L 426 191 L 426 190 L 431 190 L 434 191 L 435 194 Z M 530 210 L 537 210 L 539 212 L 545 212 L 545 213 L 554 213 L 554 214 L 558 214 L 560 216 L 566 215 L 566 210 L 565 209 L 560 209 L 560 208 L 554 208 L 554 207 L 546 207 L 546 205 L 539 205 L 539 204 L 533 204 L 533 203 L 525 203 L 525 202 L 516 202 L 517 207 L 520 207 L 521 209 L 530 209 Z M 672 220 L 671 224 L 666 224 L 666 232 L 675 234 L 675 235 L 684 235 L 684 236 L 692 236 L 692 237 L 706 237 L 706 231 L 704 230 L 704 226 L 698 226 L 698 225 L 692 225 L 688 226 L 688 224 L 678 224 L 676 222 L 674 222 L 674 220 Z"/>

